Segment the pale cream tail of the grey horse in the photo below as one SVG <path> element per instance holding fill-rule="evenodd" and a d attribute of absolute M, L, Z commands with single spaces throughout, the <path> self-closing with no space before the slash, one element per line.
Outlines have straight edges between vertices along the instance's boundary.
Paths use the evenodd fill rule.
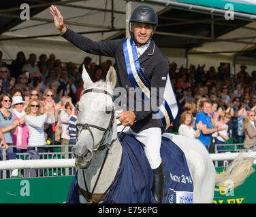
<path fill-rule="evenodd" d="M 253 157 L 245 158 L 243 153 L 240 153 L 234 161 L 230 163 L 223 174 L 216 173 L 215 184 L 217 186 L 236 188 L 246 180 L 255 170 L 252 167 Z M 215 191 L 220 191 L 215 189 Z"/>

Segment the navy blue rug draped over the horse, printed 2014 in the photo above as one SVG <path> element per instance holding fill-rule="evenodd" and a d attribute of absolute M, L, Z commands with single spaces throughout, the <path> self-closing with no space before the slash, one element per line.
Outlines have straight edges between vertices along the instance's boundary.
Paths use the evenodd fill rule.
<path fill-rule="evenodd" d="M 153 172 L 143 144 L 125 133 L 118 138 L 123 147 L 120 170 L 103 203 L 155 203 L 151 191 Z M 162 137 L 161 158 L 165 173 L 163 203 L 193 203 L 193 181 L 185 154 L 172 140 Z M 77 175 L 67 203 L 80 203 Z"/>

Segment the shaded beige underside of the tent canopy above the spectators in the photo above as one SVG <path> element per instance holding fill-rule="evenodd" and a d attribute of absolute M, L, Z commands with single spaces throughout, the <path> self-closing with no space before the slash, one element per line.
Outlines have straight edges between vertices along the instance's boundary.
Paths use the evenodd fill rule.
<path fill-rule="evenodd" d="M 31 2 L 42 3 L 45 1 L 35 1 Z M 167 0 L 165 0 L 167 1 Z M 67 1 L 59 1 L 67 2 Z M 159 1 L 159 3 L 163 1 Z M 172 3 L 173 1 L 169 1 Z M 150 5 L 155 9 L 158 15 L 161 16 L 163 12 L 170 10 L 170 16 L 172 16 L 172 6 L 159 4 L 157 5 L 157 0 L 155 1 L 123 1 L 123 0 L 88 0 L 88 1 L 69 1 L 65 5 L 56 6 L 63 14 L 65 19 L 65 25 L 71 28 L 73 31 L 84 34 L 86 37 L 93 39 L 95 41 L 113 39 L 116 35 L 122 35 L 125 33 L 125 27 L 127 26 L 127 9 L 131 6 L 131 11 L 138 5 Z M 112 3 L 113 3 L 113 14 L 112 14 Z M 127 4 L 128 7 L 127 7 Z M 50 4 L 49 4 L 50 5 Z M 20 12 L 17 11 L 17 18 L 20 16 Z M 105 12 L 104 12 L 105 11 Z M 3 12 L 7 16 L 7 12 Z M 183 13 L 186 13 L 184 11 Z M 1 10 L 0 10 L 1 14 Z M 112 15 L 114 20 L 112 20 Z M 129 14 L 128 14 L 129 15 Z M 186 20 L 185 20 L 186 21 Z M 254 20 L 252 20 L 254 21 Z M 112 31 L 112 28 L 117 31 Z M 239 70 L 239 65 L 244 63 L 249 66 L 249 71 L 253 71 L 256 68 L 253 58 L 242 58 L 240 57 L 240 51 L 253 50 L 255 49 L 256 41 L 253 39 L 256 36 L 256 24 L 255 22 L 247 23 L 245 26 L 236 28 L 234 31 L 230 31 L 220 37 L 217 37 L 214 41 L 207 41 L 199 47 L 194 47 L 191 50 L 178 49 L 178 48 L 166 48 L 161 47 L 164 54 L 168 56 L 170 62 L 174 61 L 181 64 L 204 64 L 206 63 L 206 69 L 211 65 L 219 66 L 219 62 L 229 62 L 231 65 L 236 66 L 236 72 Z M 103 33 L 91 33 L 91 31 L 105 31 Z M 160 35 L 169 34 L 171 36 L 177 37 L 197 37 L 195 35 L 184 35 L 184 34 L 172 34 L 172 33 L 155 33 Z M 53 35 L 49 37 L 43 37 L 44 35 Z M 6 31 L 1 35 L 1 39 L 24 37 L 25 39 L 15 39 L 15 40 L 1 40 L 0 46 L 3 52 L 3 59 L 14 60 L 16 54 L 20 51 L 25 52 L 26 57 L 29 54 L 34 53 L 39 57 L 40 54 L 55 54 L 62 62 L 76 62 L 80 64 L 84 60 L 85 56 L 91 56 L 94 62 L 99 62 L 98 56 L 93 56 L 91 54 L 86 54 L 79 50 L 71 43 L 65 41 L 59 35 L 59 31 L 54 27 L 52 16 L 49 9 L 44 9 L 39 14 L 31 17 L 30 20 L 26 20 L 17 26 L 14 26 L 9 31 Z M 42 37 L 35 37 L 42 36 Z M 35 38 L 30 38 L 35 37 Z M 245 37 L 245 39 L 244 39 Z M 209 39 L 210 37 L 201 37 L 201 39 Z M 227 41 L 227 39 L 237 39 L 234 41 Z M 234 51 L 234 53 L 232 53 Z M 186 53 L 187 52 L 187 53 Z M 197 54 L 201 52 L 223 52 L 223 54 Z M 227 53 L 225 53 L 227 52 Z M 189 54 L 193 53 L 193 54 Z M 186 56 L 187 55 L 187 56 Z M 102 58 L 101 60 L 106 60 L 111 58 Z M 187 60 L 188 59 L 188 60 Z"/>

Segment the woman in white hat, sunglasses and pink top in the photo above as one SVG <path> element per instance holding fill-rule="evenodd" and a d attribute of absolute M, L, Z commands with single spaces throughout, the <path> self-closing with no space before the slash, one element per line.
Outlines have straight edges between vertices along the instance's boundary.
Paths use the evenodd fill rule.
<path fill-rule="evenodd" d="M 27 152 L 29 132 L 25 123 L 26 113 L 23 110 L 25 103 L 22 96 L 14 96 L 12 98 L 12 106 L 14 108 L 12 112 L 14 113 L 15 120 L 19 122 L 19 125 L 12 134 L 13 144 L 16 145 L 16 149 L 14 149 L 16 153 Z"/>

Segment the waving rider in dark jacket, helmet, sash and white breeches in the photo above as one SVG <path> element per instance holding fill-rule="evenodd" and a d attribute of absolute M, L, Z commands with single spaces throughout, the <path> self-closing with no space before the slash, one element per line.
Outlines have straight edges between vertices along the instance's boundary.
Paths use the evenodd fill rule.
<path fill-rule="evenodd" d="M 163 92 L 160 89 L 165 88 L 169 63 L 152 39 L 157 27 L 157 14 L 152 7 L 138 6 L 129 20 L 131 38 L 95 42 L 66 28 L 63 16 L 54 5 L 50 7 L 50 12 L 62 37 L 87 53 L 115 58 L 116 87 L 125 88 L 127 95 L 127 103 L 121 105 L 123 111 L 116 117 L 122 125 L 130 127 L 127 134 L 132 134 L 144 144 L 144 152 L 153 170 L 153 196 L 157 203 L 162 203 L 164 174 L 160 146 L 161 134 L 165 130 L 165 126 L 161 121 L 163 118 L 156 118 L 154 114 L 159 110 L 163 101 Z M 138 74 L 134 74 L 136 70 L 138 70 Z M 145 85 L 148 87 L 148 92 L 144 92 Z M 153 91 L 153 88 L 157 91 Z M 131 89 L 135 90 L 136 94 L 140 92 L 142 98 L 129 91 Z M 138 100 L 142 106 L 136 109 Z M 133 109 L 129 107 L 129 102 L 130 104 L 134 102 Z M 148 102 L 149 104 L 147 104 Z M 170 111 L 170 109 L 166 109 L 166 111 Z M 170 119 L 167 119 L 169 122 L 165 121 L 164 123 L 168 126 Z"/>

